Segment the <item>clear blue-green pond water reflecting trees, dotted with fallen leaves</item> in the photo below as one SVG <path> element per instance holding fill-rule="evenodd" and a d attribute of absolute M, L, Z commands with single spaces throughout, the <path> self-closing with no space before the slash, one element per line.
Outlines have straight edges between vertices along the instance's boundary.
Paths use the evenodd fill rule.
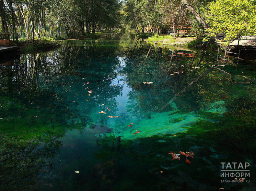
<path fill-rule="evenodd" d="M 256 61 L 219 58 L 119 33 L 3 63 L 0 190 L 254 190 Z"/>

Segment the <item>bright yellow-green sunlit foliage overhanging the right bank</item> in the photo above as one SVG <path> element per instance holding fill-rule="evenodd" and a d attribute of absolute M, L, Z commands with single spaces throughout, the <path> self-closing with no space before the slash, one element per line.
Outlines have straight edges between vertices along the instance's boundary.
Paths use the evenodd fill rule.
<path fill-rule="evenodd" d="M 254 0 L 217 0 L 211 2 L 206 14 L 210 36 L 225 33 L 229 43 L 242 35 L 256 35 L 256 3 Z"/>

